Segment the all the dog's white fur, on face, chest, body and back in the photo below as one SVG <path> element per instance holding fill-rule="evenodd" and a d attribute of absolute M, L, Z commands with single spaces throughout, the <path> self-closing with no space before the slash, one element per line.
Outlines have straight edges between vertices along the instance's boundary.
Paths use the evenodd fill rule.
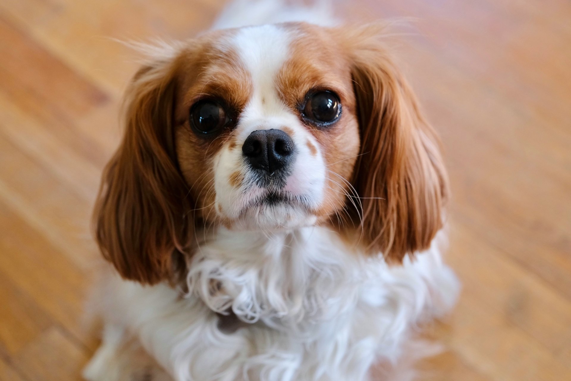
<path fill-rule="evenodd" d="M 246 13 L 231 5 L 225 26 L 276 21 L 264 16 L 279 11 L 273 4 L 256 1 L 254 11 Z M 256 13 L 256 7 L 262 9 Z M 300 7 L 286 14 L 305 20 L 312 15 Z M 227 42 L 254 83 L 236 131 L 243 142 L 257 129 L 290 127 L 300 152 L 288 190 L 318 205 L 326 170 L 321 153 L 310 155 L 305 142 L 319 145 L 274 88 L 292 38 L 279 26 L 263 26 L 242 29 Z M 227 216 L 240 215 L 263 191 L 248 183 L 240 155 L 239 148 L 224 147 L 214 161 L 216 202 Z M 246 177 L 238 189 L 228 185 L 236 170 Z M 124 378 L 129 369 L 117 371 L 123 364 L 117 359 L 129 355 L 122 344 L 130 341 L 176 381 L 365 381 L 373 364 L 399 359 L 417 323 L 444 314 L 455 302 L 459 285 L 441 260 L 443 232 L 416 260 L 389 267 L 381 255 L 367 258 L 335 232 L 307 227 L 312 219 L 301 209 L 258 212 L 256 218 L 283 226 L 283 215 L 289 214 L 297 227 L 198 232 L 187 292 L 167 284 L 142 286 L 110 272 L 99 290 L 106 330 L 85 378 L 138 381 L 133 375 Z M 243 322 L 231 333 L 221 330 L 216 314 L 229 311 Z M 163 380 L 161 372 L 153 372 L 160 376 L 152 381 Z"/>

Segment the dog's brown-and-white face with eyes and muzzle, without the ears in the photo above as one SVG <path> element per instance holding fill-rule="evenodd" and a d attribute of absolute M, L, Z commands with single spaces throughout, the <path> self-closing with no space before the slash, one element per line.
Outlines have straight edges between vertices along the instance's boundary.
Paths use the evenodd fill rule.
<path fill-rule="evenodd" d="M 359 127 L 332 37 L 268 25 L 206 35 L 184 51 L 176 157 L 207 223 L 293 228 L 344 207 Z"/>

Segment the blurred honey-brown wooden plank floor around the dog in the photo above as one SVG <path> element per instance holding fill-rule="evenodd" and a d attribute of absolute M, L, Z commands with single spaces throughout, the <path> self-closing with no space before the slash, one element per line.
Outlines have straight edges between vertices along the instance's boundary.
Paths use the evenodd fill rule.
<path fill-rule="evenodd" d="M 191 37 L 223 3 L 0 0 L 0 380 L 78 380 L 97 344 L 89 217 L 136 69 L 114 39 Z M 347 9 L 412 17 L 399 49 L 451 173 L 464 287 L 424 379 L 571 380 L 571 2 Z"/>

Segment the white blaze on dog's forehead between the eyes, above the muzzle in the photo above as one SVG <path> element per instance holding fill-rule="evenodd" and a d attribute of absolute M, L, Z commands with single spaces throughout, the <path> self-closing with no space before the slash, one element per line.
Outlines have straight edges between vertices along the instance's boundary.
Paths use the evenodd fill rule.
<path fill-rule="evenodd" d="M 289 41 L 289 32 L 276 25 L 246 27 L 232 39 L 253 86 L 243 118 L 271 117 L 286 111 L 276 91 L 276 77 L 289 57 Z"/>

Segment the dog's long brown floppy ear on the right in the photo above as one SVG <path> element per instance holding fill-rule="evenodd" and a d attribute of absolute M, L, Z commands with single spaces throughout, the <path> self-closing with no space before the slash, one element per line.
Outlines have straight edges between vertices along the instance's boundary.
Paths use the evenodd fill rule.
<path fill-rule="evenodd" d="M 443 226 L 448 179 L 435 131 L 381 42 L 383 26 L 349 34 L 361 149 L 353 186 L 369 252 L 401 262 L 430 246 Z"/>

